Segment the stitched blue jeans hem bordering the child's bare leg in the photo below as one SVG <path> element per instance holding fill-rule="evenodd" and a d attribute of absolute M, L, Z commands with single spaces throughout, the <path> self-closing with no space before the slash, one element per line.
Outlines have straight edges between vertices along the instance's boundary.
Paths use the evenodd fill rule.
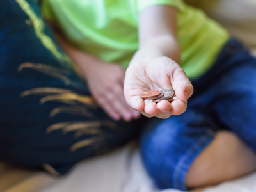
<path fill-rule="evenodd" d="M 182 168 L 184 167 L 184 164 L 186 163 L 188 157 L 191 156 L 191 154 L 193 154 L 193 152 L 195 152 L 200 147 L 200 145 L 202 145 L 207 140 L 207 138 L 212 136 L 212 134 L 213 134 L 213 131 L 211 129 L 209 129 L 207 131 L 207 133 L 203 137 L 201 137 L 201 139 L 195 145 L 193 145 L 193 147 L 189 150 L 189 152 L 185 156 L 183 156 L 182 159 L 180 159 L 178 166 L 176 168 L 176 171 L 174 173 L 174 180 L 175 180 L 176 188 L 185 189 L 184 184 L 183 184 L 183 186 L 181 186 L 180 181 L 179 181 L 179 176 L 182 172 Z"/>

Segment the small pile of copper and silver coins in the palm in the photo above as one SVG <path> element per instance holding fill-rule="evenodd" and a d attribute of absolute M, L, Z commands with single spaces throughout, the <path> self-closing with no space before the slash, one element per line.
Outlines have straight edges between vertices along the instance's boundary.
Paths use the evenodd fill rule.
<path fill-rule="evenodd" d="M 146 100 L 151 100 L 153 102 L 160 102 L 161 100 L 168 100 L 172 102 L 175 97 L 175 92 L 173 90 L 150 90 L 141 93 L 141 97 Z"/>

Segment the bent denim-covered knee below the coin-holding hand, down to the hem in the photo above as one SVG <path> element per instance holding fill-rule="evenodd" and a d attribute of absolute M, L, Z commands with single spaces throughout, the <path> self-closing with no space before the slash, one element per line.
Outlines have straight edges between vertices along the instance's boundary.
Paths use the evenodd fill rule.
<path fill-rule="evenodd" d="M 188 168 L 214 139 L 215 130 L 209 116 L 191 108 L 179 116 L 152 120 L 141 138 L 141 154 L 156 185 L 185 190 Z"/>

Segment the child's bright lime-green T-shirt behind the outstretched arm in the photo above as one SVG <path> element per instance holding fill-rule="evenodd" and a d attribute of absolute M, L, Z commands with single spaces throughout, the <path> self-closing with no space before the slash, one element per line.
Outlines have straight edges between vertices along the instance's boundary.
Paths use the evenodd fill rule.
<path fill-rule="evenodd" d="M 212 66 L 229 35 L 182 0 L 44 0 L 42 12 L 81 51 L 128 67 L 138 49 L 138 13 L 152 5 L 177 8 L 180 66 L 190 79 L 202 75 Z"/>

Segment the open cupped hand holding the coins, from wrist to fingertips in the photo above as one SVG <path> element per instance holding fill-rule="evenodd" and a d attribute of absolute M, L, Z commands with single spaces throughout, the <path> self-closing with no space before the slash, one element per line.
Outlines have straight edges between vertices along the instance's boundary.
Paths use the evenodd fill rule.
<path fill-rule="evenodd" d="M 147 90 L 173 89 L 177 99 L 172 103 L 163 100 L 159 103 L 147 102 L 140 97 Z M 143 115 L 168 118 L 186 111 L 187 100 L 193 93 L 193 86 L 184 70 L 167 57 L 148 59 L 133 63 L 127 68 L 124 95 L 131 108 Z"/>

